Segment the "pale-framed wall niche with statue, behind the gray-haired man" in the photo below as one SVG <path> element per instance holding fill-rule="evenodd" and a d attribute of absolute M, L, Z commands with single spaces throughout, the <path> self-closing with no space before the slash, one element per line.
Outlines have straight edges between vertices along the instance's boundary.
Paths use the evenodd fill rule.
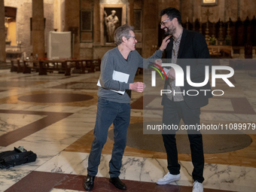
<path fill-rule="evenodd" d="M 114 30 L 126 23 L 125 4 L 100 5 L 100 43 L 114 46 Z"/>

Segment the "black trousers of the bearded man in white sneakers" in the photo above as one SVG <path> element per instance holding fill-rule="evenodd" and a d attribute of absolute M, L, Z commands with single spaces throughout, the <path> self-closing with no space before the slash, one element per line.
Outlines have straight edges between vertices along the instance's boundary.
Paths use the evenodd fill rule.
<path fill-rule="evenodd" d="M 200 124 L 200 108 L 191 109 L 186 102 L 173 102 L 168 98 L 163 101 L 163 123 L 165 125 L 177 125 L 181 119 L 185 125 Z M 175 131 L 163 131 L 163 143 L 166 148 L 168 169 L 172 175 L 180 173 L 180 164 L 178 163 L 178 151 L 175 140 Z M 200 132 L 187 130 L 187 136 L 190 141 L 191 158 L 194 166 L 192 177 L 194 181 L 203 182 L 203 140 Z"/>

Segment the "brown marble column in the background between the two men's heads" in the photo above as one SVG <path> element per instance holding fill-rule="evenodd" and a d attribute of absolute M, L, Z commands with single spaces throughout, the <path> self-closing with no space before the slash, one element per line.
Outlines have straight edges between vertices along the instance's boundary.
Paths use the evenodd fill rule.
<path fill-rule="evenodd" d="M 142 56 L 144 58 L 151 56 L 157 46 L 159 22 L 157 3 L 156 0 L 147 0 L 143 4 Z"/>

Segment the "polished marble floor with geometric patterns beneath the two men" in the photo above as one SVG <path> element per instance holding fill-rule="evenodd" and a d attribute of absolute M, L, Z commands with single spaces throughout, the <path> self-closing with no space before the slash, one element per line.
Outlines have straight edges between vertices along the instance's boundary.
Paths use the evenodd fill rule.
<path fill-rule="evenodd" d="M 0 152 L 23 146 L 38 157 L 33 163 L 0 169 L 0 191 L 84 191 L 82 183 L 87 175 L 96 120 L 98 78 L 99 72 L 39 76 L 35 72 L 0 70 Z M 136 81 L 142 80 L 142 75 L 136 76 Z M 212 153 L 211 145 L 215 148 L 218 140 L 213 139 L 212 143 L 206 140 L 210 147 L 205 151 L 205 192 L 256 191 L 256 130 L 252 129 L 256 123 L 255 80 L 256 77 L 241 70 L 230 80 L 235 87 L 217 81 L 215 90 L 224 90 L 224 96 L 214 96 L 202 108 L 201 123 L 251 124 L 251 130 L 243 133 L 249 142 L 245 147 L 236 146 L 244 142 L 239 137 L 233 141 L 225 133 L 227 138 L 221 142 L 226 151 Z M 145 117 L 160 120 L 160 98 L 150 96 L 143 111 L 143 96 L 143 93 L 132 93 L 131 126 L 143 122 L 143 112 Z M 161 139 L 152 142 L 163 145 Z M 108 182 L 113 143 L 108 137 L 93 191 L 118 191 Z M 225 143 L 231 147 L 225 149 Z M 190 154 L 181 153 L 178 158 L 181 180 L 160 186 L 155 181 L 167 172 L 166 154 L 129 145 L 123 156 L 120 178 L 126 183 L 127 191 L 192 191 Z"/>

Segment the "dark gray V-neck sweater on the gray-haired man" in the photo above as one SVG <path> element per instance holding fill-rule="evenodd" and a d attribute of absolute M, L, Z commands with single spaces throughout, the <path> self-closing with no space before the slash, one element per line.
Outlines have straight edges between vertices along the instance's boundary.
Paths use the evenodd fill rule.
<path fill-rule="evenodd" d="M 162 58 L 163 51 L 156 50 L 156 52 L 148 59 L 160 59 Z M 111 102 L 130 103 L 129 84 L 133 83 L 138 68 L 147 68 L 148 63 L 143 65 L 143 57 L 137 50 L 133 50 L 129 53 L 127 59 L 124 59 L 117 47 L 108 50 L 102 57 L 101 74 L 99 76 L 99 82 L 102 87 L 99 87 L 98 96 L 107 99 Z M 129 74 L 128 82 L 114 81 L 112 78 L 113 72 L 123 72 Z M 123 95 L 116 93 L 112 90 L 126 91 Z"/>

